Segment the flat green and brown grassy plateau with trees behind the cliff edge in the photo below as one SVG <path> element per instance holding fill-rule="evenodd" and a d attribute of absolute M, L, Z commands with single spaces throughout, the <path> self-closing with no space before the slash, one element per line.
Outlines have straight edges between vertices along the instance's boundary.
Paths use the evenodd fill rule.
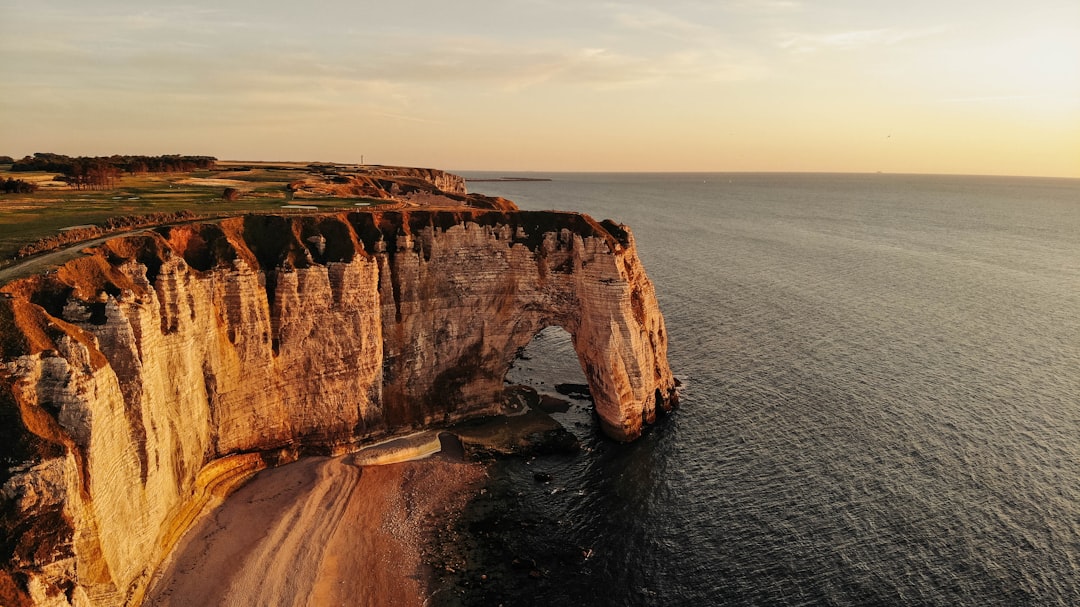
<path fill-rule="evenodd" d="M 0 268 L 105 234 L 253 212 L 516 208 L 503 199 L 469 194 L 463 178 L 433 168 L 244 161 L 190 171 L 145 168 L 104 166 L 96 168 L 100 175 L 68 175 L 82 168 L 0 167 L 0 181 L 32 185 L 23 188 L 30 191 L 0 193 Z"/>

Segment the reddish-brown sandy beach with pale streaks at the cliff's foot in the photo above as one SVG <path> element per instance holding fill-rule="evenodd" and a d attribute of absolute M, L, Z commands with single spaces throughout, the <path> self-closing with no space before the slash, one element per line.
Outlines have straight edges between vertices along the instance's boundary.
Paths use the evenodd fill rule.
<path fill-rule="evenodd" d="M 260 472 L 185 536 L 144 605 L 423 605 L 423 544 L 484 468 L 356 461 L 313 457 Z"/>

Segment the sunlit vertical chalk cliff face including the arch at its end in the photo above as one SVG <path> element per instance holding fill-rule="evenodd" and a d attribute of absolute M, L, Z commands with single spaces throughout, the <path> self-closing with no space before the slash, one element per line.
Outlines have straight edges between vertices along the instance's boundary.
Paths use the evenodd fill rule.
<path fill-rule="evenodd" d="M 494 413 L 550 325 L 611 436 L 675 399 L 633 237 L 578 214 L 162 227 L 0 296 L 5 606 L 137 603 L 193 503 L 298 453 Z"/>

